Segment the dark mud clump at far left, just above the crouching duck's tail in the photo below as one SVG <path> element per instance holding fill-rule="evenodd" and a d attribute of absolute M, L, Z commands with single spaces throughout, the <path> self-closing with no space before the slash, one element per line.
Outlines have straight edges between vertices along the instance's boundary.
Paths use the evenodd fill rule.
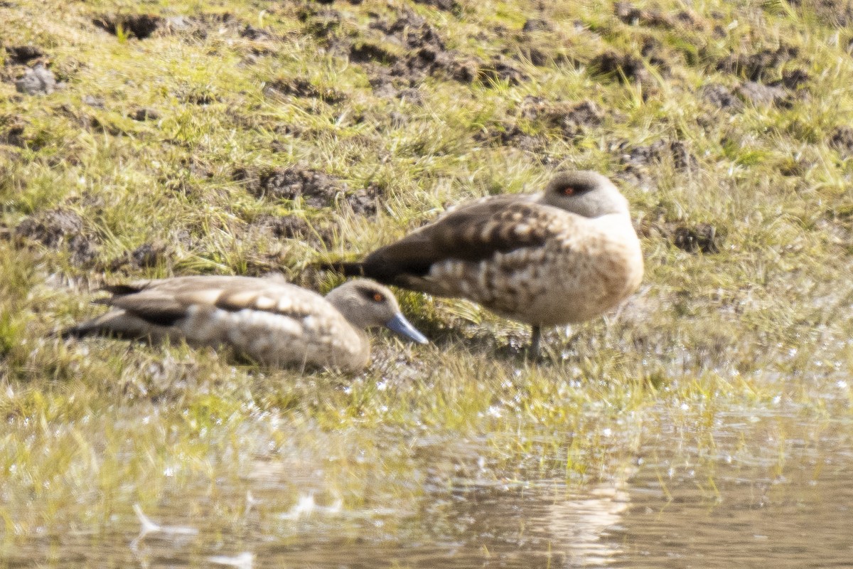
<path fill-rule="evenodd" d="M 84 232 L 83 218 L 61 208 L 26 218 L 15 228 L 15 235 L 45 247 L 65 245 L 72 264 L 78 266 L 91 264 L 98 253 L 96 239 Z"/>

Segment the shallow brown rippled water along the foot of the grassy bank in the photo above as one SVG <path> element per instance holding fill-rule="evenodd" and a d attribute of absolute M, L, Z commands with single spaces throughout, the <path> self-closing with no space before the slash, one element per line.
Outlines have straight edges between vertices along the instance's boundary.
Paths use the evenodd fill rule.
<path fill-rule="evenodd" d="M 173 491 L 145 513 L 160 531 L 141 536 L 128 514 L 7 534 L 0 566 L 851 566 L 849 420 L 802 415 L 720 415 L 699 437 L 662 416 L 671 427 L 595 484 L 508 477 L 477 441 L 410 445 L 410 469 L 365 480 L 358 500 L 260 459 L 236 482 Z"/>

